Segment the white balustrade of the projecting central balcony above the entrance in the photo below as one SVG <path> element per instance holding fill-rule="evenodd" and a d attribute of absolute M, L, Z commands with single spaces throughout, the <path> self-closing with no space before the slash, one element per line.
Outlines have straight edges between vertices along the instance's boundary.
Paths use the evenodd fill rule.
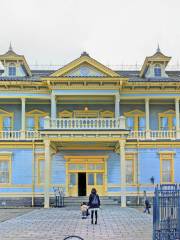
<path fill-rule="evenodd" d="M 125 129 L 125 117 L 119 118 L 45 118 L 45 129 L 113 130 Z"/>

